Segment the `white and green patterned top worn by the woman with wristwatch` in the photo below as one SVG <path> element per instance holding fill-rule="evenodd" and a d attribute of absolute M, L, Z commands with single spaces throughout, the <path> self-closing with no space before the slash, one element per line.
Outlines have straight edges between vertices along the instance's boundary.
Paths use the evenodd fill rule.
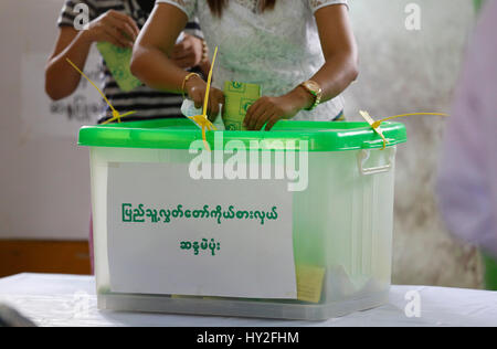
<path fill-rule="evenodd" d="M 198 18 L 204 39 L 219 46 L 213 86 L 225 81 L 258 84 L 263 95 L 279 96 L 309 80 L 325 63 L 314 12 L 347 0 L 284 0 L 274 10 L 258 13 L 257 0 L 230 0 L 222 18 L 211 13 L 204 0 L 157 0 Z M 338 96 L 297 120 L 331 120 L 343 109 Z"/>

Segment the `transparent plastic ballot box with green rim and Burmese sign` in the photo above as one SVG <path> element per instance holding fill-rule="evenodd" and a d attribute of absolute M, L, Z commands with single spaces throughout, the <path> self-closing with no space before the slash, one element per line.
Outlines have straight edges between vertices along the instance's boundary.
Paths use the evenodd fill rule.
<path fill-rule="evenodd" d="M 385 148 L 367 123 L 83 127 L 98 307 L 319 320 L 383 304 L 406 134 L 381 129 Z"/>

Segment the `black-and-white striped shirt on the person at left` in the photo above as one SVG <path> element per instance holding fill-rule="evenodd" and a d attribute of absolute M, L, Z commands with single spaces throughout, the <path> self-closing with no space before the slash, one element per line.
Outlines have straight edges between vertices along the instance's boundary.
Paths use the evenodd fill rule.
<path fill-rule="evenodd" d="M 76 15 L 80 13 L 74 8 L 78 3 L 88 7 L 89 21 L 98 18 L 109 10 L 119 11 L 128 14 L 135 20 L 138 28 L 141 29 L 147 21 L 154 0 L 66 0 L 59 17 L 59 27 L 73 27 Z M 202 32 L 197 21 L 189 22 L 184 32 L 203 39 Z M 183 117 L 181 114 L 182 97 L 177 94 L 163 93 L 141 85 L 131 92 L 123 92 L 103 61 L 102 70 L 102 89 L 110 104 L 119 113 L 136 110 L 137 113 L 126 120 L 154 119 Z M 103 123 L 112 117 L 112 110 L 108 106 L 103 109 L 98 123 Z"/>

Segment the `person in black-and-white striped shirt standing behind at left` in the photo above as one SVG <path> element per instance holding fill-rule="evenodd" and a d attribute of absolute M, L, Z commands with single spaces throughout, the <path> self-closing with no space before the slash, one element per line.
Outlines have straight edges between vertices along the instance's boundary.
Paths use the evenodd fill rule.
<path fill-rule="evenodd" d="M 89 23 L 87 29 L 77 31 L 74 21 L 80 12 L 75 10 L 81 4 L 88 9 Z M 154 6 L 154 0 L 66 0 L 57 21 L 60 32 L 55 49 L 45 70 L 47 95 L 57 101 L 76 89 L 81 75 L 67 64 L 66 59 L 83 70 L 93 43 L 110 42 L 119 47 L 133 47 Z M 173 49 L 171 59 L 175 64 L 182 70 L 208 72 L 207 45 L 195 19 L 188 22 L 183 38 Z M 116 110 L 137 112 L 126 120 L 183 117 L 180 110 L 181 95 L 163 93 L 145 85 L 123 92 L 105 61 L 102 76 L 102 89 Z M 110 117 L 112 112 L 106 106 L 98 117 L 98 123 Z"/>

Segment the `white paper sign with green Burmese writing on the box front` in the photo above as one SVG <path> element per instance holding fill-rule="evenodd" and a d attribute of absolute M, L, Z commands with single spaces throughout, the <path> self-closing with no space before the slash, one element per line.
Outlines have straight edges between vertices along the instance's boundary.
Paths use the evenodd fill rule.
<path fill-rule="evenodd" d="M 297 297 L 284 180 L 193 180 L 188 163 L 113 163 L 107 198 L 113 292 Z"/>

